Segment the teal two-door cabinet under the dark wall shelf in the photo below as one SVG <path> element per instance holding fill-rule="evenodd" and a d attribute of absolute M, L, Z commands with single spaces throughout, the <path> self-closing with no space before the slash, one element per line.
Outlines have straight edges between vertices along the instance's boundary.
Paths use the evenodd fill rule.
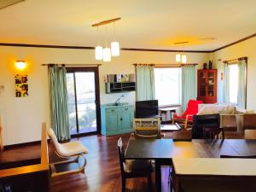
<path fill-rule="evenodd" d="M 134 109 L 128 103 L 106 104 L 101 106 L 102 135 L 112 136 L 132 132 Z"/>

